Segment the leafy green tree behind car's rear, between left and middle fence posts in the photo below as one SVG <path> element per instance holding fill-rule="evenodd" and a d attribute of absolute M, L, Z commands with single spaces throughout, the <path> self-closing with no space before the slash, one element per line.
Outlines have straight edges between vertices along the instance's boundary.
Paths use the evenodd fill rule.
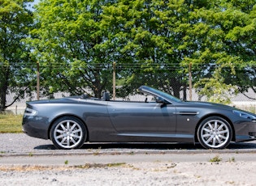
<path fill-rule="evenodd" d="M 42 86 L 49 93 L 77 95 L 90 88 L 101 97 L 111 86 L 112 61 L 100 47 L 107 35 L 100 27 L 101 7 L 106 3 L 45 0 L 36 6 L 37 27 L 30 43 L 41 66 Z"/>

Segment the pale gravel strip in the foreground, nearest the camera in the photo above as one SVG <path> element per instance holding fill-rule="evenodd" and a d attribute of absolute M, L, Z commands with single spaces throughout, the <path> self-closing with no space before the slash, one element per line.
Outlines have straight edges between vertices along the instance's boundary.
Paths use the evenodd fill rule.
<path fill-rule="evenodd" d="M 256 163 L 120 163 L 0 166 L 1 185 L 254 185 Z"/>

